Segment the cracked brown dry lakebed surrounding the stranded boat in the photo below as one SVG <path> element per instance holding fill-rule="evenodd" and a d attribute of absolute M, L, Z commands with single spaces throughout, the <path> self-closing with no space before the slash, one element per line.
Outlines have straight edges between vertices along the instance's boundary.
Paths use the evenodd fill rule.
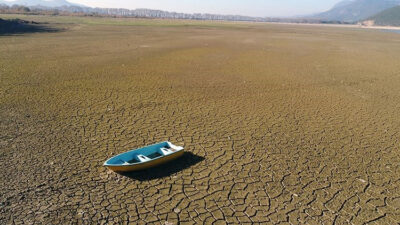
<path fill-rule="evenodd" d="M 1 224 L 400 223 L 400 35 L 169 23 L 0 37 Z"/>

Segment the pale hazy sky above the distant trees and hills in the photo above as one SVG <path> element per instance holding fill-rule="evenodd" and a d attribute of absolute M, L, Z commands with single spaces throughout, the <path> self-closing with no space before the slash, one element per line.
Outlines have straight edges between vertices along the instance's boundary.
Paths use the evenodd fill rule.
<path fill-rule="evenodd" d="M 92 7 L 150 8 L 186 13 L 296 16 L 326 11 L 341 0 L 69 0 Z"/>

